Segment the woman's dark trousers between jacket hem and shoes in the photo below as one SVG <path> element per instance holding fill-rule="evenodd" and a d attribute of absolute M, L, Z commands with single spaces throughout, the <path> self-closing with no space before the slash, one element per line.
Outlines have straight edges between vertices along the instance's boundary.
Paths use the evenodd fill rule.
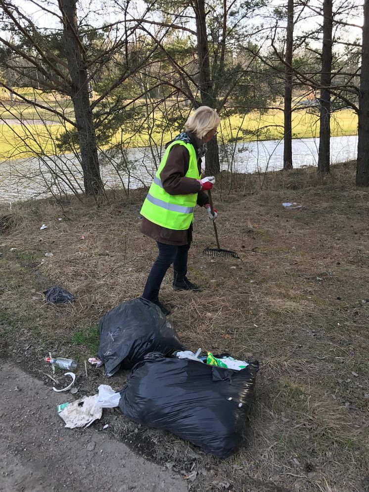
<path fill-rule="evenodd" d="M 181 282 L 187 273 L 187 257 L 191 243 L 183 246 L 172 244 L 156 243 L 159 249 L 159 256 L 155 260 L 146 280 L 142 297 L 155 302 L 159 297 L 159 290 L 163 278 L 168 268 L 173 263 L 174 278 L 173 282 Z"/>

